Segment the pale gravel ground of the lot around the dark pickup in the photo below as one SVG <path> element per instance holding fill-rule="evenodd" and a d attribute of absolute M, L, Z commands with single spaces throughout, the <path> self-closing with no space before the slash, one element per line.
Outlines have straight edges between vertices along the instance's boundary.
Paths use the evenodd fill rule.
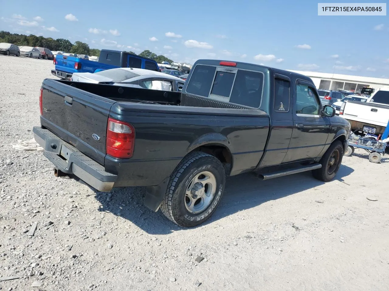
<path fill-rule="evenodd" d="M 385 158 L 356 151 L 326 184 L 230 177 L 216 213 L 183 229 L 145 208 L 142 188 L 94 192 L 12 148 L 39 125 L 52 68 L 0 55 L 0 277 L 19 277 L 1 290 L 389 289 Z"/>

